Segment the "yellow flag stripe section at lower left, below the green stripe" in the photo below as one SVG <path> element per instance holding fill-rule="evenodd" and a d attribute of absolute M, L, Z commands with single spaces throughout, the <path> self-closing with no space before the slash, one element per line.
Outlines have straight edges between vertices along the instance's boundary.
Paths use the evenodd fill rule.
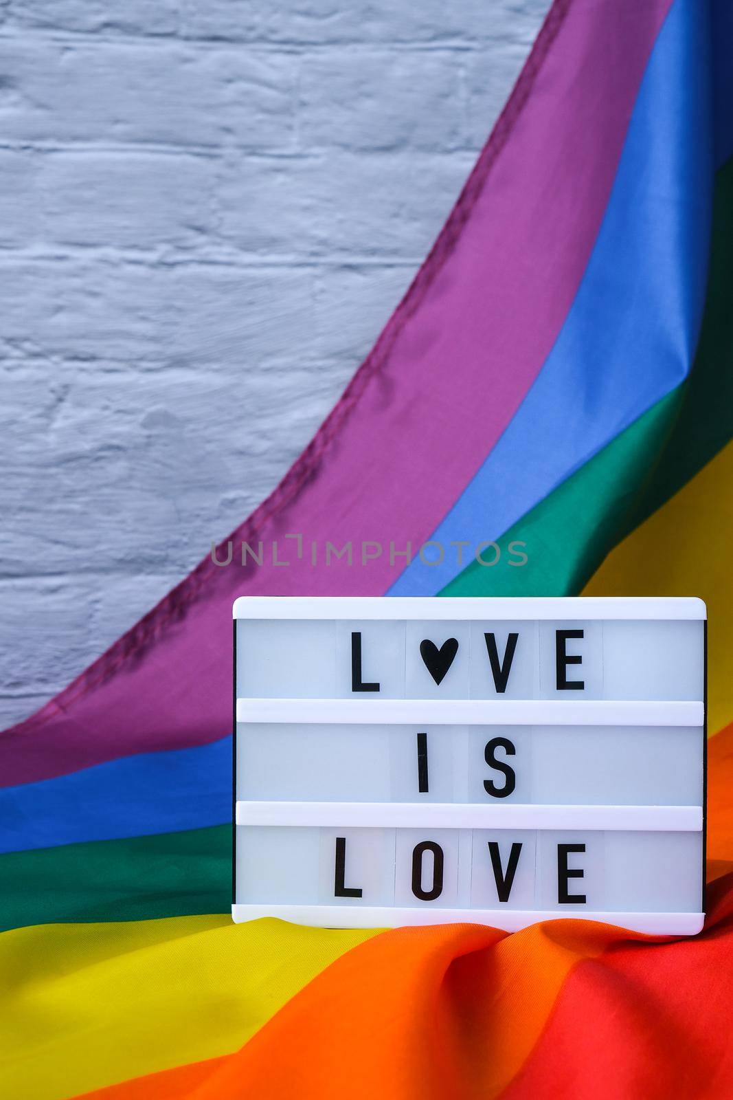
<path fill-rule="evenodd" d="M 0 1096 L 62 1100 L 229 1054 L 376 933 L 185 916 L 0 935 Z"/>

